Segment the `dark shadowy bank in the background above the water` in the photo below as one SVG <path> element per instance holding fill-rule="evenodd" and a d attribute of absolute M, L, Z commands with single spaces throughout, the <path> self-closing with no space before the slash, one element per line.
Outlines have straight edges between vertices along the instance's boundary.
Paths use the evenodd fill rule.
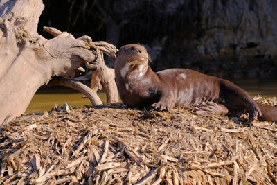
<path fill-rule="evenodd" d="M 154 71 L 184 67 L 223 78 L 277 77 L 277 1 L 45 0 L 43 26 L 118 48 L 144 44 Z M 113 61 L 107 60 L 113 67 Z"/>

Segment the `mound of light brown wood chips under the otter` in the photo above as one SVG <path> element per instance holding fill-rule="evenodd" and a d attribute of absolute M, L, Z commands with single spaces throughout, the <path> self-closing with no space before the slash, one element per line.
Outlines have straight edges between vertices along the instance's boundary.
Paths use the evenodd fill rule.
<path fill-rule="evenodd" d="M 25 114 L 0 140 L 0 184 L 277 184 L 276 123 L 182 107 Z"/>

